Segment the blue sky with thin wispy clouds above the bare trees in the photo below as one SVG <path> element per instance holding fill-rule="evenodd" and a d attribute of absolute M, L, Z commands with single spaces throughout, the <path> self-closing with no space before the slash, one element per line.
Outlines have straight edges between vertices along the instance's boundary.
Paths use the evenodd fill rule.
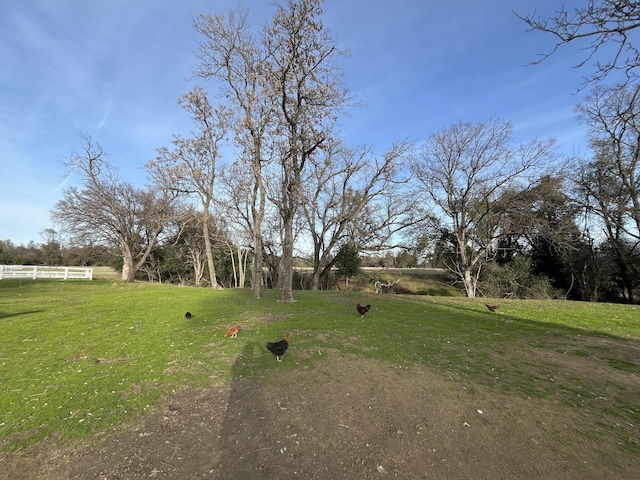
<path fill-rule="evenodd" d="M 586 0 L 585 0 L 586 1 Z M 567 8 L 585 1 L 564 2 Z M 68 182 L 62 162 L 89 134 L 144 185 L 141 167 L 173 134 L 192 127 L 178 105 L 196 59 L 193 18 L 235 8 L 234 0 L 6 0 L 0 4 L 0 239 L 41 243 L 49 212 Z M 245 0 L 260 28 L 271 0 Z M 362 103 L 341 122 L 352 145 L 382 150 L 423 140 L 459 120 L 499 116 L 517 139 L 554 136 L 585 153 L 574 107 L 587 73 L 578 46 L 541 65 L 553 39 L 525 31 L 512 13 L 548 17 L 556 0 L 326 0 L 324 25 L 344 81 Z M 215 85 L 201 83 L 211 92 Z"/>

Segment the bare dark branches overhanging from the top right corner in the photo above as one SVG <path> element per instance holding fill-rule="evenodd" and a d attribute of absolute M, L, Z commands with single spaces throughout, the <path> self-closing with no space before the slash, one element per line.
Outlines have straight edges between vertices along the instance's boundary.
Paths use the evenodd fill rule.
<path fill-rule="evenodd" d="M 515 12 L 514 12 L 515 13 Z M 515 15 L 526 22 L 530 31 L 541 31 L 556 37 L 550 52 L 534 61 L 540 63 L 561 46 L 585 42 L 586 57 L 576 67 L 595 62 L 596 72 L 585 78 L 583 87 L 604 80 L 611 72 L 621 71 L 628 81 L 638 77 L 640 51 L 632 42 L 634 30 L 640 27 L 640 3 L 628 0 L 588 0 L 586 6 L 567 10 L 564 5 L 550 19 L 542 19 L 534 11 Z M 603 56 L 604 60 L 599 58 Z M 608 59 L 606 59 L 608 58 Z"/>

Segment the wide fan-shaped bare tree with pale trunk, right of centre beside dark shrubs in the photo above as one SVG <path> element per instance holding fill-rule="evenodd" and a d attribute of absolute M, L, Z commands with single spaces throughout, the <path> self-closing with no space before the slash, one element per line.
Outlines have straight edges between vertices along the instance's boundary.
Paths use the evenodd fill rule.
<path fill-rule="evenodd" d="M 456 255 L 449 268 L 475 297 L 483 263 L 500 238 L 518 196 L 534 185 L 538 169 L 554 158 L 555 140 L 512 145 L 511 123 L 491 118 L 458 122 L 431 135 L 412 170 L 427 201 L 452 232 Z"/>

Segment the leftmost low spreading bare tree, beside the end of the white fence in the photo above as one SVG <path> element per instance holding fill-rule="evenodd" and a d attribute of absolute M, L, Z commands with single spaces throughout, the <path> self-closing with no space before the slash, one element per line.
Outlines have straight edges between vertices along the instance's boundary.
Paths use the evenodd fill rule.
<path fill-rule="evenodd" d="M 51 212 L 52 219 L 80 244 L 119 247 L 122 280 L 133 282 L 173 215 L 175 197 L 120 180 L 102 147 L 88 135 L 83 139 L 84 151 L 65 162 L 80 172 L 82 186 L 65 190 Z"/>

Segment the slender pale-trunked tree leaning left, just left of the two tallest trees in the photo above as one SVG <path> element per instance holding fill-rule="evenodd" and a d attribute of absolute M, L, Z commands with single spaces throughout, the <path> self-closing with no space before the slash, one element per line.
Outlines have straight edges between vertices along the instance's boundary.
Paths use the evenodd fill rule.
<path fill-rule="evenodd" d="M 197 127 L 194 137 L 185 139 L 176 136 L 173 140 L 174 150 L 159 148 L 156 159 L 147 162 L 145 167 L 160 188 L 176 194 L 196 195 L 199 199 L 209 280 L 213 288 L 222 288 L 216 278 L 209 225 L 215 196 L 216 163 L 220 157 L 220 145 L 227 133 L 227 112 L 224 107 L 214 109 L 200 87 L 183 95 L 180 104 L 191 113 Z"/>

